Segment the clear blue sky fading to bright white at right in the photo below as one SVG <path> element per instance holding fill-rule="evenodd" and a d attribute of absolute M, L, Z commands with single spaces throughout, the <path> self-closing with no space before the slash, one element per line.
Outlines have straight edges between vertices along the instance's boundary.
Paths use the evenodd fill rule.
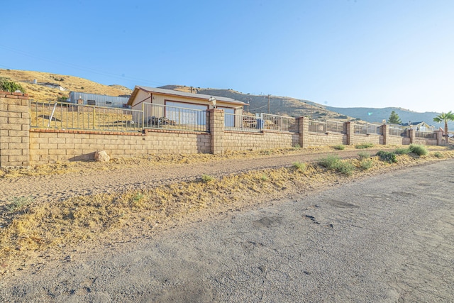
<path fill-rule="evenodd" d="M 0 68 L 454 110 L 454 1 L 6 1 Z"/>

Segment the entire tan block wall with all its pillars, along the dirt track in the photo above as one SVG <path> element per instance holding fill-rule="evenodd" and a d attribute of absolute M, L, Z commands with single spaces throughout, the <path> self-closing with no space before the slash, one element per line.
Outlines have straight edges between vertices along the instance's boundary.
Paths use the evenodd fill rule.
<path fill-rule="evenodd" d="M 113 158 L 156 153 L 225 153 L 226 150 L 291 148 L 295 145 L 409 144 L 437 145 L 436 139 L 360 135 L 353 123 L 345 123 L 346 134 L 309 133 L 309 122 L 299 118 L 299 133 L 262 130 L 258 133 L 225 131 L 223 111 L 208 113 L 209 132 L 147 129 L 143 133 L 63 131 L 30 128 L 28 95 L 0 92 L 0 167 L 43 164 L 66 160 L 89 160 L 96 150 Z M 386 131 L 386 126 L 384 131 Z M 386 139 L 386 140 L 385 140 Z M 441 141 L 440 141 L 441 142 Z"/>

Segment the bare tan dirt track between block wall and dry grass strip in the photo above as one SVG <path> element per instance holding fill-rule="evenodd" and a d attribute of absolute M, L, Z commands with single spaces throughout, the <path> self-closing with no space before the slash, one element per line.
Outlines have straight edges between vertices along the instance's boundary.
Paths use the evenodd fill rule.
<path fill-rule="evenodd" d="M 65 175 L 42 175 L 20 178 L 0 178 L 0 204 L 11 197 L 32 196 L 35 201 L 66 199 L 76 195 L 118 192 L 128 189 L 148 189 L 160 184 L 196 180 L 201 175 L 219 177 L 232 173 L 292 165 L 292 162 L 312 162 L 326 155 L 337 154 L 342 158 L 358 157 L 359 150 L 330 151 L 301 155 L 279 155 L 191 164 L 171 164 L 118 168 L 115 172 L 89 170 Z M 367 150 L 371 155 L 377 150 Z"/>

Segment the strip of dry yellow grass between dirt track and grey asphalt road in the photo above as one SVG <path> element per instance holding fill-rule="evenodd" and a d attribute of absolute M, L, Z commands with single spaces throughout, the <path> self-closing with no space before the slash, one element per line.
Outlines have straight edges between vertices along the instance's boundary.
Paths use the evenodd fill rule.
<path fill-rule="evenodd" d="M 454 158 L 453 151 L 441 153 L 444 158 Z M 339 180 L 433 160 L 438 158 L 431 154 L 420 158 L 398 155 L 398 162 L 389 164 L 372 157 L 367 170 L 361 159 L 348 160 L 356 167 L 350 177 L 307 164 L 304 171 L 292 166 L 228 175 L 209 182 L 200 178 L 145 192 L 96 194 L 48 204 L 31 202 L 14 211 L 9 208 L 11 205 L 5 205 L 1 212 L 6 224 L 0 228 L 0 264 L 23 263 L 54 248 L 77 247 L 81 241 L 118 241 L 121 233 L 131 228 L 155 233 L 160 227 L 282 199 L 289 192 L 311 191 Z"/>

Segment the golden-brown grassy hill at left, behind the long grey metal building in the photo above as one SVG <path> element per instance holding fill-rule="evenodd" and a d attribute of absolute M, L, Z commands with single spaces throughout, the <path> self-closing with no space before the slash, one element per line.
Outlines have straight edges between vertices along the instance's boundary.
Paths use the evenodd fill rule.
<path fill-rule="evenodd" d="M 58 75 L 49 72 L 0 69 L 0 77 L 9 78 L 12 81 L 21 84 L 22 87 L 26 89 L 26 93 L 33 96 L 33 99 L 43 101 L 56 101 L 58 98 L 67 97 L 71 91 L 87 92 L 91 94 L 106 94 L 109 96 L 131 94 L 132 92 L 131 89 L 128 89 L 128 87 L 122 87 L 121 85 L 104 85 L 79 77 Z M 60 89 L 57 88 L 33 84 L 35 79 L 38 83 L 49 82 L 60 85 L 67 90 L 60 91 Z"/>

